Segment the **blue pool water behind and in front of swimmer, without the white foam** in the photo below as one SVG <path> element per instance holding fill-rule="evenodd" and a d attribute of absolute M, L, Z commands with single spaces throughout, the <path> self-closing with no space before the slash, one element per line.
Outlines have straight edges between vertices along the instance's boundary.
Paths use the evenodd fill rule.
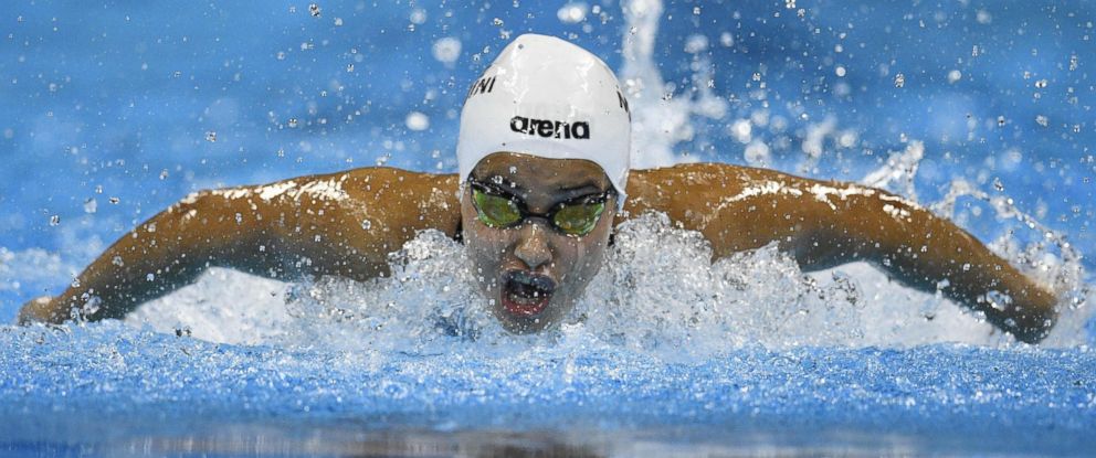
<path fill-rule="evenodd" d="M 967 179 L 1012 198 L 1064 234 L 1089 270 L 1096 267 L 1096 6 L 795 3 L 666 6 L 655 60 L 676 84 L 674 96 L 692 90 L 695 57 L 685 44 L 700 34 L 709 42 L 714 90 L 729 103 L 723 119 L 696 118 L 696 136 L 674 151 L 745 163 L 744 145 L 727 126 L 762 105 L 788 128 L 753 135 L 772 147 L 772 166 L 787 171 L 858 180 L 889 151 L 924 141 L 921 201 Z M 15 255 L 8 268 L 21 270 L 0 285 L 0 321 L 10 322 L 31 297 L 60 292 L 72 269 L 194 190 L 380 162 L 454 171 L 466 87 L 521 32 L 569 38 L 621 67 L 626 31 L 615 2 L 591 3 L 602 4 L 603 14 L 578 24 L 557 18 L 562 2 L 515 4 L 325 1 L 319 17 L 307 2 L 7 6 L 0 248 Z M 411 20 L 415 10 L 425 14 L 421 23 Z M 720 43 L 723 33 L 731 45 Z M 462 43 L 452 64 L 432 56 L 442 38 Z M 961 72 L 953 83 L 952 71 Z M 765 100 L 750 96 L 759 85 L 755 74 L 767 85 Z M 430 127 L 409 129 L 411 111 L 425 114 Z M 818 164 L 799 169 L 808 129 L 828 117 L 857 141 L 826 141 Z M 980 238 L 1009 231 L 1020 241 L 1041 236 L 972 210 L 980 205 L 966 202 L 958 217 Z M 35 253 L 46 260 L 30 264 Z M 573 362 L 579 375 L 563 381 L 566 362 L 552 359 L 492 368 L 492 361 L 405 355 L 378 372 L 331 364 L 339 369 L 316 373 L 324 358 L 337 355 L 113 324 L 63 335 L 0 329 L 0 416 L 18 425 L 0 441 L 66 438 L 52 443 L 59 447 L 96 430 L 93 413 L 137 436 L 181 434 L 199 420 L 213 425 L 207 429 L 286 418 L 317 429 L 346 422 L 535 429 L 588 418 L 605 428 L 695 425 L 716 436 L 736 425 L 769 432 L 843 425 L 908 434 L 915 444 L 932 437 L 968 444 L 941 446 L 945 451 L 1074 455 L 1094 449 L 1096 432 L 1096 358 L 1087 349 L 739 349 L 681 366 L 592 353 Z M 607 379 L 614 370 L 628 379 Z M 419 380 L 415 371 L 438 376 Z M 528 388 L 525 380 L 547 385 Z M 492 392 L 499 395 L 476 394 Z M 136 425 L 165 418 L 177 426 Z"/>

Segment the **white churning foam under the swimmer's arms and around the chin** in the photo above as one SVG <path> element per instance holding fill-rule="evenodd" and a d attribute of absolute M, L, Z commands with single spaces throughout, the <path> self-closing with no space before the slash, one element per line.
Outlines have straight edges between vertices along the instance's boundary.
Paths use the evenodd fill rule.
<path fill-rule="evenodd" d="M 562 326 L 512 335 L 487 311 L 464 248 L 434 231 L 391 257 L 392 275 L 285 284 L 213 269 L 127 318 L 222 342 L 396 352 L 525 351 L 551 342 L 662 359 L 745 345 L 907 347 L 1012 341 L 959 306 L 856 263 L 804 275 L 770 246 L 709 262 L 703 236 L 649 214 L 620 227 L 605 268 Z M 1079 317 L 1078 317 L 1079 318 Z M 1084 342 L 1079 328 L 1055 345 Z M 464 342 L 464 343 L 462 343 Z M 454 345 L 463 345 L 460 349 Z M 479 350 L 477 350 L 479 351 Z"/>

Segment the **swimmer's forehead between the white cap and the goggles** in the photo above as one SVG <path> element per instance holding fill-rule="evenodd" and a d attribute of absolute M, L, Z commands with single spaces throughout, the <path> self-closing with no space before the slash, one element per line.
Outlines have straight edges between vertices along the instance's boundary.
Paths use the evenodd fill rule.
<path fill-rule="evenodd" d="M 527 191 L 612 187 L 601 166 L 586 159 L 548 159 L 516 152 L 495 152 L 472 169 L 472 177 L 487 180 L 500 177 Z"/>

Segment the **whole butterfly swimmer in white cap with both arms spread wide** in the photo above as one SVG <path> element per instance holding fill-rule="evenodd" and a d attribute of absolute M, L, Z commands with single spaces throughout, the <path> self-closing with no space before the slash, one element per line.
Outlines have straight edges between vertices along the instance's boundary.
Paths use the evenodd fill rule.
<path fill-rule="evenodd" d="M 1018 340 L 1054 324 L 1055 295 L 951 222 L 888 192 L 772 170 L 631 170 L 631 114 L 613 72 L 566 41 L 518 36 L 472 84 L 457 174 L 361 168 L 193 193 L 115 242 L 19 322 L 122 318 L 210 266 L 280 279 L 388 273 L 424 230 L 466 246 L 507 330 L 560 322 L 604 262 L 613 227 L 663 212 L 715 257 L 776 244 L 803 270 L 853 260 L 939 290 Z M 642 153 L 642 151 L 640 152 Z"/>

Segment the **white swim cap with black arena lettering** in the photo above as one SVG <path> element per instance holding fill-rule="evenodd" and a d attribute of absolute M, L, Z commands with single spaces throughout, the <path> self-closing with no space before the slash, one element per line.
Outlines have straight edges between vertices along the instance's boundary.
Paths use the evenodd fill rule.
<path fill-rule="evenodd" d="M 623 206 L 631 138 L 628 100 L 604 62 L 555 36 L 525 34 L 468 89 L 456 145 L 462 189 L 498 151 L 586 159 L 605 171 Z"/>

